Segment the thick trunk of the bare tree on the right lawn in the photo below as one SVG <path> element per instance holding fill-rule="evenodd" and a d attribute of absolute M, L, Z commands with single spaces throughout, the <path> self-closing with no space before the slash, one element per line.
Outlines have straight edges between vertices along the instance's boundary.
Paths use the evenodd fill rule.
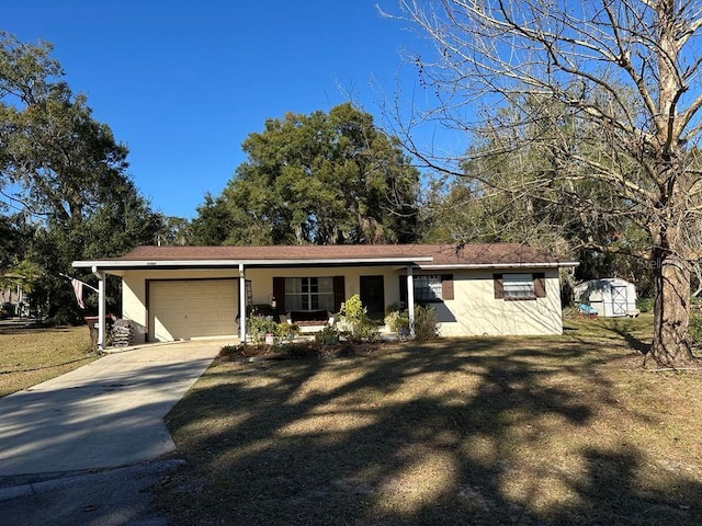
<path fill-rule="evenodd" d="M 688 324 L 690 321 L 690 267 L 669 251 L 655 254 L 656 301 L 654 340 L 649 356 L 664 367 L 694 362 Z"/>

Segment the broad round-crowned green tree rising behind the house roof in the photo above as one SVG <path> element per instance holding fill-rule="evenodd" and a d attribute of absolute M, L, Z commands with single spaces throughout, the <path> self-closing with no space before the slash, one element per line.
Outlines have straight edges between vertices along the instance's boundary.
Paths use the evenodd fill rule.
<path fill-rule="evenodd" d="M 242 148 L 248 159 L 222 196 L 208 196 L 199 208 L 194 239 L 228 244 L 417 239 L 419 172 L 397 139 L 352 104 L 269 119 Z"/>

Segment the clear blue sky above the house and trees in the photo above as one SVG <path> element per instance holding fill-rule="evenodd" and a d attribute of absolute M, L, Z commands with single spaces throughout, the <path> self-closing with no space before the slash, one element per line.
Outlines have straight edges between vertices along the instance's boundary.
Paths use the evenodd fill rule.
<path fill-rule="evenodd" d="M 129 173 L 155 209 L 193 217 L 245 160 L 265 118 L 351 99 L 382 123 L 403 48 L 419 39 L 380 16 L 396 0 L 24 0 L 0 28 L 54 44 L 73 92 L 129 148 Z M 383 90 L 383 92 L 378 92 Z"/>

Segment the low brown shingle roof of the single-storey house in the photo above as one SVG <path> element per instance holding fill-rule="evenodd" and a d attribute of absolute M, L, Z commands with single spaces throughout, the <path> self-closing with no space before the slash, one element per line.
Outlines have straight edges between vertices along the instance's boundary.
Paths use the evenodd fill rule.
<path fill-rule="evenodd" d="M 335 244 L 272 247 L 138 247 L 112 262 L 192 261 L 291 261 L 398 259 L 420 266 L 558 264 L 559 261 L 531 247 L 512 243 L 467 244 Z M 431 261 L 427 261 L 431 259 Z M 421 261 L 423 260 L 423 261 Z"/>

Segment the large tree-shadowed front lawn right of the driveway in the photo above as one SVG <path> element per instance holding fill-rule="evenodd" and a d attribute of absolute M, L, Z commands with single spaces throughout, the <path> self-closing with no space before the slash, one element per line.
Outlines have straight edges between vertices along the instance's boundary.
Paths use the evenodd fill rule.
<path fill-rule="evenodd" d="M 215 362 L 167 423 L 176 525 L 699 525 L 702 375 L 650 317 L 561 338 Z"/>

